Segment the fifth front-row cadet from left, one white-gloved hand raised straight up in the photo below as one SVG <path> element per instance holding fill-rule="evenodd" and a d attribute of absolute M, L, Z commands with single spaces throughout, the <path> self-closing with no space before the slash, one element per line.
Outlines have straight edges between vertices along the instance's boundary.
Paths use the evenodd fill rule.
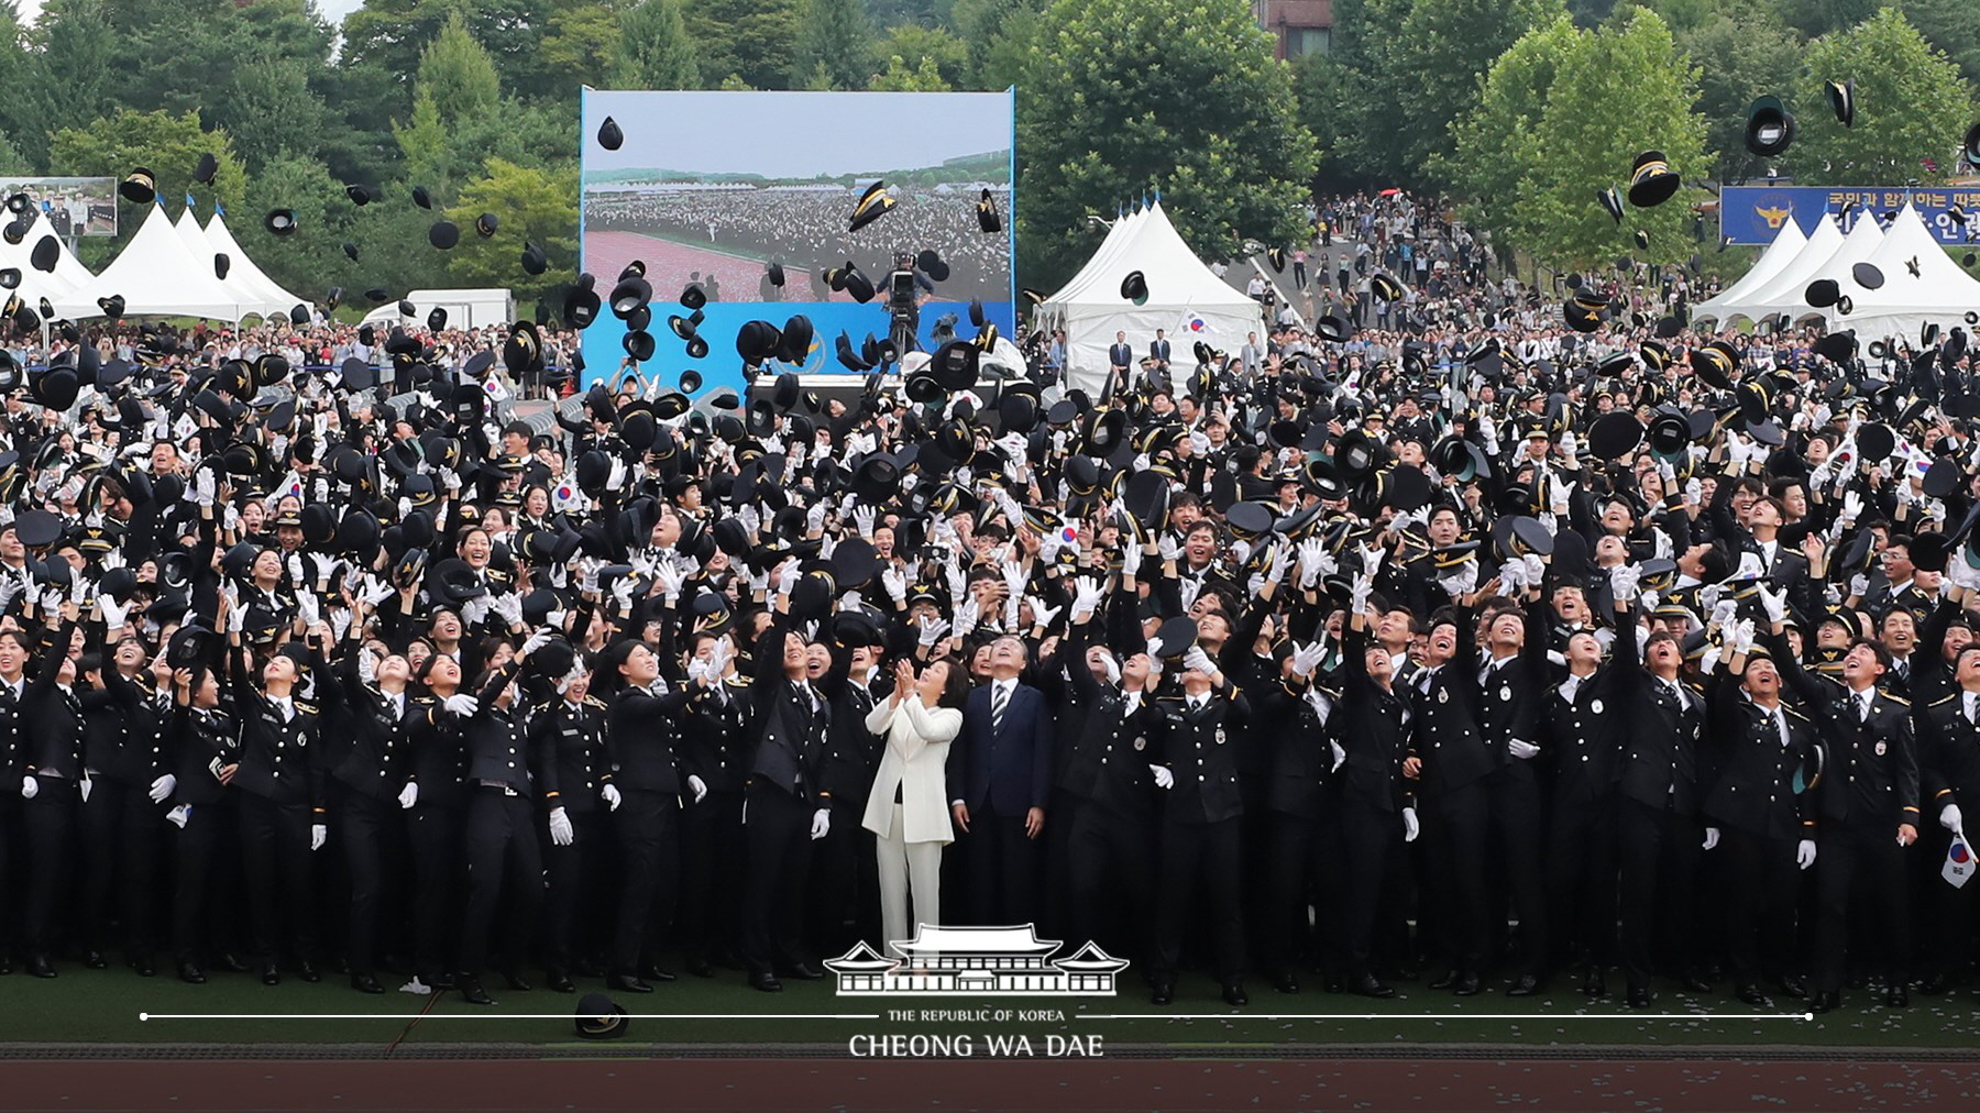
<path fill-rule="evenodd" d="M 281 923 L 287 921 L 287 951 L 305 982 L 321 980 L 317 970 L 317 901 L 311 881 L 311 852 L 323 850 L 327 828 L 327 770 L 321 766 L 323 739 L 317 707 L 295 697 L 301 669 L 311 663 L 305 650 L 283 646 L 261 663 L 259 681 L 249 673 L 248 646 L 242 644 L 248 612 L 228 610 L 230 667 L 234 699 L 240 707 L 242 753 L 232 784 L 240 788 L 242 860 L 248 879 L 248 911 L 261 984 L 281 982 L 277 966 L 283 951 Z M 311 630 L 329 638 L 329 628 Z M 283 897 L 277 911 L 277 895 Z"/>

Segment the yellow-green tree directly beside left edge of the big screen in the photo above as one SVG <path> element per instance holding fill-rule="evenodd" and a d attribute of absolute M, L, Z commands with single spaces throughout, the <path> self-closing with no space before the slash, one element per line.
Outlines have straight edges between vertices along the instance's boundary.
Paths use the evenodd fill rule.
<path fill-rule="evenodd" d="M 447 273 L 459 285 L 507 285 L 517 289 L 546 289 L 544 277 L 523 271 L 523 244 L 537 244 L 550 257 L 552 273 L 578 269 L 578 170 L 539 170 L 507 158 L 489 158 L 485 174 L 461 188 L 447 210 L 461 230 L 475 216 L 493 212 L 501 218 L 495 236 L 483 240 L 465 234 L 449 252 Z"/>

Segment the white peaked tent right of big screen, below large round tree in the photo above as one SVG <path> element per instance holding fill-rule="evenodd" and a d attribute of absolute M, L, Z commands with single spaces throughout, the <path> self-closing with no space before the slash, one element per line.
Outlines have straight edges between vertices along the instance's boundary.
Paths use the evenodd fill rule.
<path fill-rule="evenodd" d="M 1142 305 L 1121 297 L 1121 279 L 1140 271 L 1148 279 Z M 1263 309 L 1190 252 L 1176 226 L 1154 202 L 1115 222 L 1093 259 L 1040 307 L 1041 317 L 1065 329 L 1065 384 L 1095 396 L 1107 388 L 1107 349 L 1127 333 L 1135 353 L 1146 353 L 1156 329 L 1174 345 L 1174 360 L 1192 362 L 1202 341 L 1236 353 L 1245 333 L 1263 331 Z"/>

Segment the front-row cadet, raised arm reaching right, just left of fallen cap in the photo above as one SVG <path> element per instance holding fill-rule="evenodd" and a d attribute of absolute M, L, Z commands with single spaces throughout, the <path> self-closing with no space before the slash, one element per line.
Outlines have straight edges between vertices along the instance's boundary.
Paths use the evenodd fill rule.
<path fill-rule="evenodd" d="M 495 909 L 509 897 L 501 972 L 509 988 L 527 992 L 523 957 L 543 907 L 543 852 L 529 792 L 529 737 L 517 705 L 521 661 L 548 642 L 531 634 L 515 659 L 487 669 L 475 695 L 453 695 L 444 707 L 465 719 L 467 737 L 467 909 L 455 986 L 467 1004 L 495 1004 L 481 988 L 481 970 L 495 933 Z"/>

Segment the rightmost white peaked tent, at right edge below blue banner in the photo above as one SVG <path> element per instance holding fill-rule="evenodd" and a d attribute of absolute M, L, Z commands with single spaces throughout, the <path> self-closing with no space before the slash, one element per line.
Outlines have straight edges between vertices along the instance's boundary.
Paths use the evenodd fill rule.
<path fill-rule="evenodd" d="M 1885 337 L 1909 341 L 1929 323 L 1950 329 L 1964 325 L 1968 311 L 1980 309 L 1980 281 L 1946 255 L 1909 202 L 1865 261 L 1883 271 L 1881 287 L 1863 289 L 1847 267 L 1824 275 L 1835 279 L 1853 303 L 1847 315 L 1830 311 L 1830 329 L 1855 329 L 1863 343 Z"/>

